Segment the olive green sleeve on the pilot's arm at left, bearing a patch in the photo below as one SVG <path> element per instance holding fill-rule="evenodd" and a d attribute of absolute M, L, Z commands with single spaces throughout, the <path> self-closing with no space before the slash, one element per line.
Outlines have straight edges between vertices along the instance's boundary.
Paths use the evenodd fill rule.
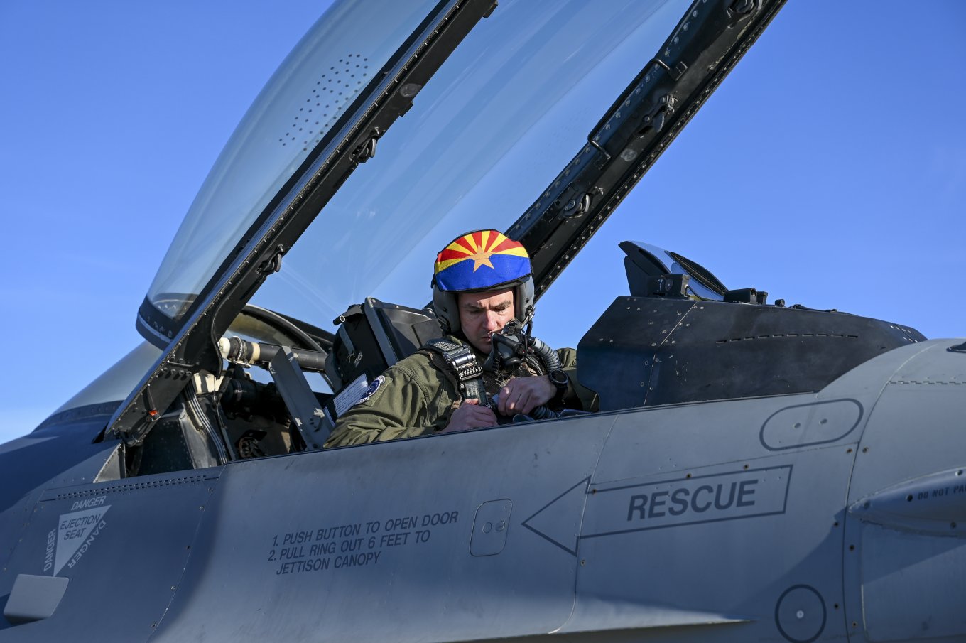
<path fill-rule="evenodd" d="M 402 367 L 386 370 L 373 380 L 367 395 L 342 414 L 324 446 L 395 440 L 444 428 L 452 400 L 428 374 Z"/>

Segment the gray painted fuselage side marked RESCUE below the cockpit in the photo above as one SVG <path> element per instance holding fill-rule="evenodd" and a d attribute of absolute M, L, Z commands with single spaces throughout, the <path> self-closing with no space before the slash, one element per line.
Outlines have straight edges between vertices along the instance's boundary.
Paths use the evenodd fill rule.
<path fill-rule="evenodd" d="M 85 500 L 99 506 L 73 513 L 111 512 L 65 568 L 71 585 L 57 614 L 30 630 L 0 630 L 0 640 L 50 640 L 62 620 L 122 593 L 139 599 L 114 627 L 97 630 L 99 640 L 139 640 L 133 631 L 162 641 L 199 632 L 206 640 L 300 640 L 312 631 L 341 641 L 468 640 L 482 629 L 492 638 L 610 631 L 618 640 L 623 630 L 646 629 L 653 640 L 677 640 L 698 624 L 702 640 L 720 641 L 776 633 L 788 641 L 907 640 L 922 623 L 940 637 L 961 636 L 954 619 L 929 618 L 956 600 L 961 536 L 898 531 L 848 511 L 936 468 L 955 477 L 966 452 L 929 453 L 930 444 L 966 440 L 964 380 L 951 374 L 963 356 L 946 350 L 951 343 L 897 349 L 814 395 L 629 410 L 51 488 L 10 566 L 43 573 L 48 535 Z M 906 410 L 920 395 L 934 410 L 928 420 Z M 858 425 L 854 413 L 838 412 L 841 399 L 867 409 Z M 811 423 L 806 431 L 822 439 L 767 448 L 762 427 L 808 405 L 830 411 L 838 429 Z M 375 603 L 366 599 L 372 588 L 382 597 Z M 414 618 L 429 597 L 437 613 Z"/>

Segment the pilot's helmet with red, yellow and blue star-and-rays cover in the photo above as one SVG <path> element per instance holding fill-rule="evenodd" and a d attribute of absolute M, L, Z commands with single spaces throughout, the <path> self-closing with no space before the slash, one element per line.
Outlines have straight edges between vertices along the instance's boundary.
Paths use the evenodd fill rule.
<path fill-rule="evenodd" d="M 433 308 L 444 333 L 460 330 L 458 294 L 514 288 L 514 310 L 523 324 L 533 317 L 530 257 L 519 241 L 496 230 L 460 235 L 436 255 Z"/>

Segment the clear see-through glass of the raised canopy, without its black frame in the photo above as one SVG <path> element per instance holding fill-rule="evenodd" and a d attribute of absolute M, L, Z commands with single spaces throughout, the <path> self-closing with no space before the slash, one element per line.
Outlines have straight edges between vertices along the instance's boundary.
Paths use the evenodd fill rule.
<path fill-rule="evenodd" d="M 426 15 L 448 4 L 384 3 L 374 20 L 369 4 L 338 2 L 312 27 L 192 203 L 139 311 L 142 335 L 163 347 L 177 334 L 277 218 L 299 168 L 331 151 L 348 111 L 377 98 Z M 367 296 L 423 305 L 428 258 L 481 221 L 506 229 L 521 217 L 689 4 L 500 0 L 425 87 L 410 89 L 419 108 L 379 139 L 252 302 L 326 330 Z"/>

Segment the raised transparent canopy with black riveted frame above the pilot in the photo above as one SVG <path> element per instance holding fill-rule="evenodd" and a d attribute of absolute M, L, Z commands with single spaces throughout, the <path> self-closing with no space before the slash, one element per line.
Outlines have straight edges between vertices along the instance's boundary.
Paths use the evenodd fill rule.
<path fill-rule="evenodd" d="M 249 302 L 323 331 L 366 296 L 421 306 L 465 230 L 523 241 L 539 295 L 780 6 L 336 3 L 192 204 L 138 315 L 165 355 L 115 428 L 164 363 L 217 372 Z"/>

